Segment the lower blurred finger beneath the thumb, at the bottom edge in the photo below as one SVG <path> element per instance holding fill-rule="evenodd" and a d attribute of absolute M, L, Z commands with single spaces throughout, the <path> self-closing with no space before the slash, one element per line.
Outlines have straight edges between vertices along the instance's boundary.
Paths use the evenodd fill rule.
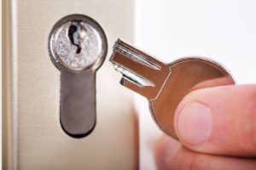
<path fill-rule="evenodd" d="M 160 170 L 253 170 L 256 167 L 256 161 L 253 159 L 211 156 L 193 152 L 170 138 L 160 139 L 156 145 L 155 161 Z"/>

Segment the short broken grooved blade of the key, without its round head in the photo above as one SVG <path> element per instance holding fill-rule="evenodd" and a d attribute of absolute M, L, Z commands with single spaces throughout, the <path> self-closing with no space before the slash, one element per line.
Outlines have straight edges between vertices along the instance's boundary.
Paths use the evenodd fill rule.
<path fill-rule="evenodd" d="M 109 60 L 114 69 L 123 75 L 120 83 L 148 99 L 157 98 L 171 74 L 168 65 L 120 39 L 115 42 Z"/>

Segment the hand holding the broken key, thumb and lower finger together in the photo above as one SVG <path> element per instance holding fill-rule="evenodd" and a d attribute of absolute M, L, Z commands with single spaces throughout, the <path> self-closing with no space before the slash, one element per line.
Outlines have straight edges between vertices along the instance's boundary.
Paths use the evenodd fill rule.
<path fill-rule="evenodd" d="M 159 169 L 256 169 L 256 85 L 202 88 L 178 105 L 179 142 L 163 137 Z"/>

